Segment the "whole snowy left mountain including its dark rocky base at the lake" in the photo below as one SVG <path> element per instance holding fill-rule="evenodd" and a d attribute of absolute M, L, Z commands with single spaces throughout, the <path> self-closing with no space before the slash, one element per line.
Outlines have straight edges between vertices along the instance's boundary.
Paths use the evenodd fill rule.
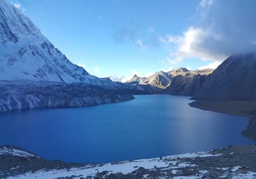
<path fill-rule="evenodd" d="M 23 12 L 0 0 L 0 111 L 120 102 L 134 93 L 73 64 Z"/>

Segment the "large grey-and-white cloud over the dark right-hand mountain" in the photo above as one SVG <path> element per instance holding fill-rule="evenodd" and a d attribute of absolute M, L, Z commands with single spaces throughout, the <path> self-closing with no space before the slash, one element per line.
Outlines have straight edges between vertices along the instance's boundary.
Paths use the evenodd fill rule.
<path fill-rule="evenodd" d="M 181 35 L 159 37 L 169 52 L 167 60 L 177 64 L 184 58 L 197 57 L 221 62 L 253 46 L 256 43 L 254 7 L 254 0 L 202 0 L 193 25 Z"/>

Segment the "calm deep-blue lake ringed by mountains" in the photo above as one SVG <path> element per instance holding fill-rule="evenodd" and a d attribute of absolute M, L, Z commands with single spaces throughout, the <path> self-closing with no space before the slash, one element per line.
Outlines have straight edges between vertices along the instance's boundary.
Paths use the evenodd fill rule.
<path fill-rule="evenodd" d="M 135 98 L 0 113 L 0 145 L 22 147 L 48 160 L 100 163 L 255 143 L 241 135 L 249 124 L 246 117 L 190 107 L 188 96 Z"/>

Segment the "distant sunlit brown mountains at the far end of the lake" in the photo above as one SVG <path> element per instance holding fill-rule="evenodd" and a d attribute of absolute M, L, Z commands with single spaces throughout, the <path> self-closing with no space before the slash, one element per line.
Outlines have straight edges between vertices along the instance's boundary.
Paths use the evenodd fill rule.
<path fill-rule="evenodd" d="M 178 68 L 168 73 L 160 71 L 147 78 L 134 75 L 124 84 L 137 88 L 142 85 L 145 88 L 148 85 L 153 91 L 165 94 L 195 95 L 212 71 L 212 69 L 189 71 L 185 68 Z"/>

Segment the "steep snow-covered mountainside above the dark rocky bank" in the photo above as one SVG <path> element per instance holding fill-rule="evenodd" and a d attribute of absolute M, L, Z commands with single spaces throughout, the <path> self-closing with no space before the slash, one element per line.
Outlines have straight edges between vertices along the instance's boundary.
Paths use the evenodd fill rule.
<path fill-rule="evenodd" d="M 73 64 L 7 0 L 0 0 L 0 10 L 0 80 L 122 85 L 97 78 Z"/>

